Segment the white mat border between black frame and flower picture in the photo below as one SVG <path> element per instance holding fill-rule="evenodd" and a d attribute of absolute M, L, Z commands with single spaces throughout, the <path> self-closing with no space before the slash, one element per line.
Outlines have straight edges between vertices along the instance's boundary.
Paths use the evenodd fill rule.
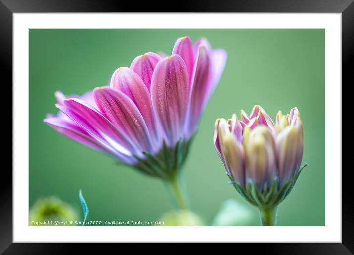
<path fill-rule="evenodd" d="M 13 14 L 13 241 L 341 242 L 342 41 L 335 14 Z M 28 227 L 29 28 L 325 28 L 325 227 Z M 315 95 L 314 95 L 315 96 Z M 315 114 L 315 109 L 313 109 Z M 336 121 L 331 121 L 336 116 Z M 339 118 L 339 119 L 338 119 Z M 310 196 L 311 194 L 309 194 Z"/>

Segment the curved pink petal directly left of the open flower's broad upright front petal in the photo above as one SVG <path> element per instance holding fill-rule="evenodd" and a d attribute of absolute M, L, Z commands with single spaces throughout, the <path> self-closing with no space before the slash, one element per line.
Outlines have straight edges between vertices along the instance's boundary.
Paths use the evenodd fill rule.
<path fill-rule="evenodd" d="M 158 134 L 150 93 L 141 78 L 133 69 L 121 67 L 114 72 L 111 87 L 118 89 L 132 99 L 146 123 L 154 149 L 159 149 L 161 139 Z"/>

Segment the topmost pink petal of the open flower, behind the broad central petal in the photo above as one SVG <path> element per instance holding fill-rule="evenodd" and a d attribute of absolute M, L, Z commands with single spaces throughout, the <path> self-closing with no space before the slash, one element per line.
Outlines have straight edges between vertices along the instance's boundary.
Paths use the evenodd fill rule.
<path fill-rule="evenodd" d="M 172 54 L 177 54 L 183 58 L 185 66 L 187 67 L 188 79 L 190 81 L 192 79 L 194 67 L 194 51 L 190 38 L 187 36 L 179 38 L 175 43 Z"/>

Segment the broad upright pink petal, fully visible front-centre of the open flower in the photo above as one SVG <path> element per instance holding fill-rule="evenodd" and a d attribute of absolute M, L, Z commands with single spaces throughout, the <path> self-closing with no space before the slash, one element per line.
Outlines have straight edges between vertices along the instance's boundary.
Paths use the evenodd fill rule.
<path fill-rule="evenodd" d="M 164 58 L 156 65 L 151 80 L 151 100 L 168 146 L 183 135 L 189 85 L 185 63 L 179 55 Z"/>

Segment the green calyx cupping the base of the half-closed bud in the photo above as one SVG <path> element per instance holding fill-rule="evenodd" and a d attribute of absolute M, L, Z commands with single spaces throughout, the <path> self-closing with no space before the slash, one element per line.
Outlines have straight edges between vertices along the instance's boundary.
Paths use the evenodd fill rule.
<path fill-rule="evenodd" d="M 260 190 L 255 183 L 247 181 L 245 187 L 235 182 L 235 180 L 229 176 L 231 184 L 235 187 L 238 193 L 247 200 L 251 205 L 258 207 L 259 209 L 273 209 L 276 208 L 292 191 L 301 171 L 306 167 L 305 164 L 297 174 L 284 183 L 281 187 L 278 187 L 278 178 L 274 179 L 270 187 L 266 187 Z"/>

